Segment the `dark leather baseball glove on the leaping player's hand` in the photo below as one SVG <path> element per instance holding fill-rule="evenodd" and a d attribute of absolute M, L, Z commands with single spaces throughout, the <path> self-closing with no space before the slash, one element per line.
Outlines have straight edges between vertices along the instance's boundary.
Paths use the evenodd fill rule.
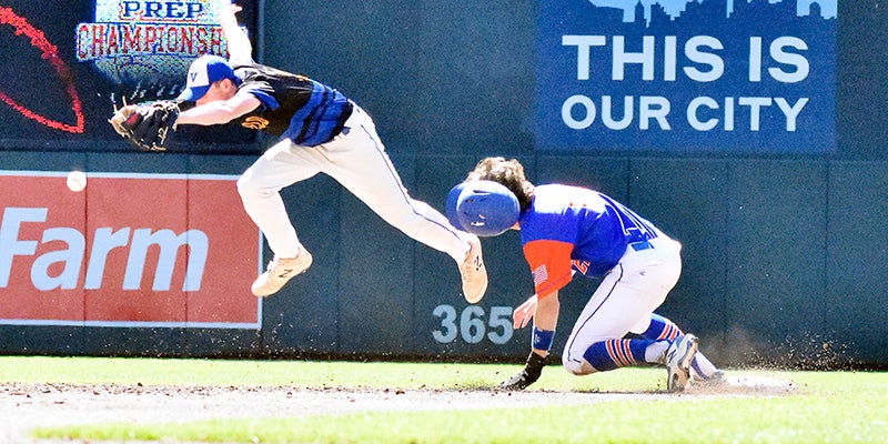
<path fill-rule="evenodd" d="M 142 151 L 167 151 L 179 104 L 172 100 L 160 100 L 140 104 L 114 107 L 114 115 L 108 121 L 118 134 Z"/>

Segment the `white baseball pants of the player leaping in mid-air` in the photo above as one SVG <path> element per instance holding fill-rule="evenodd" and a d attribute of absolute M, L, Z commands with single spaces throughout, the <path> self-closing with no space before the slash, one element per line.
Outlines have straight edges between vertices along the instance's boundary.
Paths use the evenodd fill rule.
<path fill-rule="evenodd" d="M 462 263 L 468 253 L 467 234 L 456 230 L 428 204 L 414 200 L 401 183 L 371 117 L 356 104 L 345 129 L 316 147 L 283 140 L 271 147 L 238 180 L 244 210 L 262 230 L 280 258 L 293 258 L 301 248 L 296 230 L 281 199 L 284 186 L 325 173 L 410 238 Z"/>

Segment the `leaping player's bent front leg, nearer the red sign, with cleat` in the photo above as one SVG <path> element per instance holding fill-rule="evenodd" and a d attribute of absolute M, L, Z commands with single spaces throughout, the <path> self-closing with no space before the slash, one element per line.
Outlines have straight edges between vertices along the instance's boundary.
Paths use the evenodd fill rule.
<path fill-rule="evenodd" d="M 291 278 L 311 266 L 311 253 L 299 241 L 280 191 L 319 172 L 311 149 L 292 149 L 290 141 L 270 148 L 238 180 L 243 208 L 264 234 L 274 258 L 253 282 L 258 296 L 276 293 Z"/>

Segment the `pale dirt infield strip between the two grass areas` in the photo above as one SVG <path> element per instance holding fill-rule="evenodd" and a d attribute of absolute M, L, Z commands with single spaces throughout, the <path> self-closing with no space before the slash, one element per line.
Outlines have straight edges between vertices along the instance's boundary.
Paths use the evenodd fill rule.
<path fill-rule="evenodd" d="M 48 425 L 526 407 L 675 396 L 760 396 L 791 394 L 796 390 L 786 381 L 738 377 L 719 387 L 689 386 L 682 394 L 3 384 L 0 385 L 0 442 L 50 443 L 29 435 L 31 428 Z"/>

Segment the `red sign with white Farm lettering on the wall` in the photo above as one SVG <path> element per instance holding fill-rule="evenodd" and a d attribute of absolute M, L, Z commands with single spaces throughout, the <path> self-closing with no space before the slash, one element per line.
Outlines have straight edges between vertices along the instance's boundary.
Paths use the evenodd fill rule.
<path fill-rule="evenodd" d="M 0 324 L 259 329 L 235 176 L 0 171 Z"/>

